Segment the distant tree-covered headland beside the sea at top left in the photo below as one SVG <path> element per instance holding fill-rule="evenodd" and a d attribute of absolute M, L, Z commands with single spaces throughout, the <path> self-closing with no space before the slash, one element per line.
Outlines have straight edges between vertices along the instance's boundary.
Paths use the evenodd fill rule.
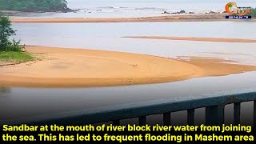
<path fill-rule="evenodd" d="M 0 0 L 0 10 L 26 12 L 69 12 L 66 0 Z"/>

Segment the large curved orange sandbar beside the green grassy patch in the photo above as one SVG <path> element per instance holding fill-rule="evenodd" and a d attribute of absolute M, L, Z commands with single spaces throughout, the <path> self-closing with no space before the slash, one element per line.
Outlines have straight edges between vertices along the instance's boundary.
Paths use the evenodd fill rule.
<path fill-rule="evenodd" d="M 26 50 L 42 60 L 1 66 L 0 86 L 121 86 L 174 82 L 256 70 L 255 66 L 235 65 L 207 58 L 185 61 L 142 54 L 46 46 L 29 46 Z"/>

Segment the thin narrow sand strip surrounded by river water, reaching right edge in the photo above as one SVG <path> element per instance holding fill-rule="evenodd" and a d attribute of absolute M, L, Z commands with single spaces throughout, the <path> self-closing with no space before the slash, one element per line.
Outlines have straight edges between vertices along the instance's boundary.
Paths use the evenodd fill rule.
<path fill-rule="evenodd" d="M 123 38 L 148 38 L 148 39 L 164 39 L 178 41 L 202 41 L 202 42 L 246 42 L 256 43 L 256 39 L 240 39 L 240 38 L 191 38 L 191 37 L 162 37 L 162 36 L 134 36 Z"/>

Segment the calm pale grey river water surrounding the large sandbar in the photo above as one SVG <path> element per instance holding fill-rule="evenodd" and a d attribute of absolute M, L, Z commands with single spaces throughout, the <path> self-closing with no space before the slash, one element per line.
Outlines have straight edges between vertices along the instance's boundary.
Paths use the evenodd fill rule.
<path fill-rule="evenodd" d="M 188 42 L 122 38 L 136 35 L 251 38 L 256 39 L 255 22 L 141 22 L 80 24 L 14 24 L 17 38 L 27 45 L 114 50 L 151 54 L 166 58 L 204 56 L 225 58 L 238 63 L 256 64 L 256 44 L 229 42 Z M 0 93 L 0 119 L 145 102 L 159 98 L 184 97 L 226 90 L 251 89 L 256 86 L 256 72 L 222 77 L 193 78 L 180 82 L 139 86 L 113 86 L 82 89 L 7 88 Z M 244 122 L 249 119 L 251 102 L 242 104 Z M 228 106 L 230 107 L 230 106 Z M 198 110 L 203 121 L 203 109 Z M 226 110 L 232 114 L 232 108 Z M 180 112 L 178 118 L 186 118 Z M 173 117 L 175 122 L 182 120 Z M 230 121 L 231 118 L 227 118 Z"/>

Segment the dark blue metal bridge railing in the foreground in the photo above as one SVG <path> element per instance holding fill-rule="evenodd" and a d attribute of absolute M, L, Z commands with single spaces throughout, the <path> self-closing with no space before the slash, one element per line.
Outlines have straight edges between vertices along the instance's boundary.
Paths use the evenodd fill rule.
<path fill-rule="evenodd" d="M 122 119 L 138 118 L 139 125 L 145 125 L 147 116 L 163 114 L 163 123 L 168 126 L 170 125 L 170 114 L 172 112 L 187 110 L 187 123 L 188 125 L 194 125 L 194 110 L 206 107 L 206 125 L 222 125 L 224 123 L 225 106 L 233 103 L 234 124 L 238 125 L 240 123 L 241 102 L 254 102 L 253 124 L 255 126 L 256 90 L 238 90 L 193 97 L 166 98 L 121 106 L 79 110 L 30 118 L 29 123 L 34 125 L 85 125 L 99 122 L 113 122 L 114 125 L 120 125 L 120 120 Z M 26 118 L 26 120 L 28 119 Z"/>

